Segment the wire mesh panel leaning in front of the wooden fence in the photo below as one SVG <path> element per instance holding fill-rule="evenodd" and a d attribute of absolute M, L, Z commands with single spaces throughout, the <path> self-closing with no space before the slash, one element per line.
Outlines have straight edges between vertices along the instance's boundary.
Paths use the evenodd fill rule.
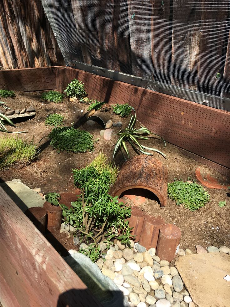
<path fill-rule="evenodd" d="M 68 64 L 169 86 L 230 110 L 230 0 L 42 0 Z M 168 93 L 168 92 L 167 92 Z M 184 94 L 186 97 L 186 94 Z M 184 96 L 183 96 L 184 97 Z"/>

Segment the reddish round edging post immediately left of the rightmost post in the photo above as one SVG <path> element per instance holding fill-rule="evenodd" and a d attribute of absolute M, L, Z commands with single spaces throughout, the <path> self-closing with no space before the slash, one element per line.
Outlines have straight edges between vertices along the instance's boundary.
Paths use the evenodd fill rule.
<path fill-rule="evenodd" d="M 157 241 L 160 228 L 164 225 L 164 219 L 160 215 L 144 217 L 143 228 L 140 237 L 140 244 L 147 250 L 157 248 Z"/>

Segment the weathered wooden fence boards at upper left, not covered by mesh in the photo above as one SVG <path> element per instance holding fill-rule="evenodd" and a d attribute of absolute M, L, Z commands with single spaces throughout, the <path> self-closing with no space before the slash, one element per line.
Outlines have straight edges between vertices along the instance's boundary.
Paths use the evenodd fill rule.
<path fill-rule="evenodd" d="M 63 55 L 40 0 L 0 1 L 0 66 L 63 65 Z"/>

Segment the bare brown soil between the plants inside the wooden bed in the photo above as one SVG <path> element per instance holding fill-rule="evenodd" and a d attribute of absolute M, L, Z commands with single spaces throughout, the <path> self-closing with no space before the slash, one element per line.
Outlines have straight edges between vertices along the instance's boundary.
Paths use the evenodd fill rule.
<path fill-rule="evenodd" d="M 19 178 L 31 188 L 40 187 L 43 194 L 47 192 L 73 192 L 74 185 L 71 170 L 88 165 L 97 156 L 99 151 L 103 151 L 111 161 L 113 149 L 118 137 L 112 136 L 111 141 L 106 141 L 103 136 L 100 136 L 100 130 L 103 129 L 102 126 L 99 124 L 92 126 L 86 124 L 83 115 L 86 113 L 87 105 L 76 101 L 70 102 L 67 98 L 64 99 L 63 103 L 55 104 L 53 102 L 42 101 L 40 95 L 41 93 L 39 92 L 24 93 L 16 91 L 16 97 L 2 99 L 14 110 L 22 110 L 31 105 L 36 109 L 34 118 L 23 122 L 17 120 L 17 128 L 9 127 L 9 130 L 27 130 L 27 132 L 19 134 L 18 137 L 28 140 L 34 138 L 34 142 L 38 143 L 44 136 L 48 136 L 52 130 L 52 127 L 45 126 L 44 122 L 47 115 L 58 113 L 65 117 L 64 125 L 67 126 L 74 123 L 75 127 L 88 130 L 93 134 L 94 140 L 99 138 L 95 143 L 95 151 L 78 154 L 67 152 L 57 153 L 56 150 L 53 150 L 49 146 L 48 139 L 44 138 L 39 143 L 42 150 L 37 161 L 28 166 L 16 166 L 2 171 L 1 178 L 4 181 Z M 82 113 L 81 110 L 83 110 Z M 113 120 L 113 122 L 122 121 L 122 127 L 125 127 L 129 121 L 129 119 L 121 119 L 114 115 L 112 111 L 106 113 L 96 111 L 95 115 L 102 116 L 104 121 L 109 119 Z M 141 123 L 137 122 L 137 126 L 140 125 Z M 118 133 L 120 130 L 118 127 L 113 127 L 113 129 L 113 133 Z M 1 137 L 3 135 L 8 136 L 6 133 L 1 133 Z M 222 175 L 210 169 L 208 166 L 184 156 L 177 147 L 169 143 L 167 143 L 166 148 L 163 148 L 163 142 L 154 138 L 142 143 L 149 147 L 155 147 L 168 156 L 168 160 L 166 160 L 159 154 L 155 154 L 155 157 L 163 161 L 168 168 L 168 182 L 172 182 L 174 178 L 187 181 L 187 178 L 190 177 L 194 180 L 197 166 L 202 166 L 203 171 L 209 172 L 219 179 L 220 182 L 223 180 Z M 130 153 L 131 156 L 135 155 L 132 150 L 130 150 Z M 120 154 L 117 155 L 115 163 L 118 166 L 122 165 L 123 159 Z M 224 183 L 226 184 L 226 180 Z M 228 185 L 230 185 L 230 182 Z M 146 202 L 142 205 L 142 209 L 148 214 L 161 215 L 165 223 L 174 223 L 177 225 L 182 231 L 181 248 L 190 248 L 192 251 L 195 251 L 196 244 L 200 244 L 203 247 L 212 244 L 218 247 L 222 245 L 230 246 L 229 194 L 224 189 L 205 189 L 211 195 L 210 202 L 195 212 L 190 212 L 188 209 L 183 208 L 183 206 L 177 206 L 170 199 L 168 199 L 166 207 L 160 207 L 159 203 L 151 195 L 148 196 Z M 218 206 L 220 201 L 226 201 L 226 206 L 220 208 Z M 74 248 L 72 238 L 68 240 L 65 234 L 58 233 L 55 234 L 55 237 L 62 244 L 66 245 L 66 248 Z"/>

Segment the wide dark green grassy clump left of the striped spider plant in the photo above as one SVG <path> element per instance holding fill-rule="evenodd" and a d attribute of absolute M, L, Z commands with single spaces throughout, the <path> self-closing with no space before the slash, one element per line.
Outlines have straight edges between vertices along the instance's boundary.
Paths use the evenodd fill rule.
<path fill-rule="evenodd" d="M 93 136 L 85 130 L 55 127 L 48 137 L 50 145 L 58 151 L 86 152 L 94 149 Z"/>

